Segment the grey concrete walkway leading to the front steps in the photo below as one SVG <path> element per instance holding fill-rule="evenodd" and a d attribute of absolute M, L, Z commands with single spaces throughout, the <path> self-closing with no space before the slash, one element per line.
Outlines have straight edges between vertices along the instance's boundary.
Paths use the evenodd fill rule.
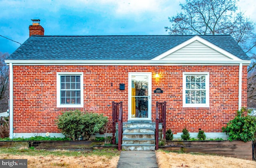
<path fill-rule="evenodd" d="M 117 168 L 158 168 L 155 151 L 122 150 Z"/>

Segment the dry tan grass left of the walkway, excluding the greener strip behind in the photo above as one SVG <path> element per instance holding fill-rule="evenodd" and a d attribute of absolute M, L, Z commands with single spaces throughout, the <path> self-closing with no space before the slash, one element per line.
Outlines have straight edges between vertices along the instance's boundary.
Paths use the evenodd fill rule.
<path fill-rule="evenodd" d="M 119 156 L 28 156 L 0 154 L 1 159 L 28 159 L 28 168 L 116 168 Z"/>

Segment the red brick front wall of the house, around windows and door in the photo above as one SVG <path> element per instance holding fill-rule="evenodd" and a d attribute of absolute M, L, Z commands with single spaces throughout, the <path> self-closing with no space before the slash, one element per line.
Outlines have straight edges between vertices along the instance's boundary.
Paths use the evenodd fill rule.
<path fill-rule="evenodd" d="M 242 106 L 246 106 L 247 66 L 243 67 Z M 174 133 L 221 132 L 238 109 L 239 66 L 14 66 L 14 133 L 58 133 L 55 119 L 70 108 L 56 107 L 56 73 L 84 73 L 84 107 L 111 119 L 112 101 L 123 101 L 128 118 L 128 72 L 152 72 L 152 120 L 156 101 L 167 102 L 167 128 Z M 160 77 L 155 78 L 158 72 Z M 182 107 L 182 72 L 209 72 L 210 107 Z M 113 86 L 111 86 L 113 83 Z M 119 84 L 125 90 L 119 90 Z M 162 94 L 153 90 L 161 88 Z"/>

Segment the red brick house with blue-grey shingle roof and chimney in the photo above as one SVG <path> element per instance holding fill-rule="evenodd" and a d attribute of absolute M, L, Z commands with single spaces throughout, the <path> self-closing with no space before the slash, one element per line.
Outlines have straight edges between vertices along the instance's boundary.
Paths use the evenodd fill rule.
<path fill-rule="evenodd" d="M 166 101 L 166 128 L 226 138 L 222 127 L 246 107 L 249 57 L 230 35 L 49 36 L 39 23 L 10 66 L 10 137 L 62 136 L 63 111 L 103 113 L 123 102 L 124 122 L 154 122 Z M 154 92 L 156 91 L 156 93 Z M 159 92 L 158 92 L 159 91 Z M 13 134 L 15 133 L 15 134 Z"/>

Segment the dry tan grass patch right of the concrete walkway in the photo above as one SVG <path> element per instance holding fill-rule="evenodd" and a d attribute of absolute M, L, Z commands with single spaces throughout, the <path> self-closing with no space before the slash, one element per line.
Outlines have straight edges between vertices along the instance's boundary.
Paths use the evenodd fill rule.
<path fill-rule="evenodd" d="M 213 155 L 178 154 L 156 151 L 159 168 L 256 168 L 256 162 Z"/>

